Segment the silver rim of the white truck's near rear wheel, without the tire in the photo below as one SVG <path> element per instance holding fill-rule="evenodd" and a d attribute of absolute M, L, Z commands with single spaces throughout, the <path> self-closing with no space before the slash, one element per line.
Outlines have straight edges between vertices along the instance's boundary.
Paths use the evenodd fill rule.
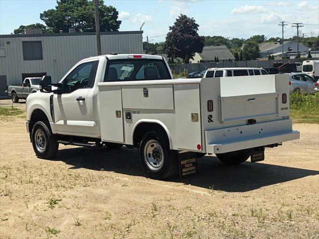
<path fill-rule="evenodd" d="M 157 140 L 149 140 L 144 147 L 144 159 L 147 166 L 153 171 L 158 171 L 163 166 L 164 154 Z"/>

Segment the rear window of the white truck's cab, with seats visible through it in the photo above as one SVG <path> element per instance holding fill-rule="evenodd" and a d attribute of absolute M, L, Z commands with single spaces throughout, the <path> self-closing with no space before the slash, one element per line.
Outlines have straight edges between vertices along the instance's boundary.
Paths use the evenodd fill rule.
<path fill-rule="evenodd" d="M 104 76 L 104 82 L 167 79 L 171 77 L 164 61 L 156 59 L 110 60 Z"/>

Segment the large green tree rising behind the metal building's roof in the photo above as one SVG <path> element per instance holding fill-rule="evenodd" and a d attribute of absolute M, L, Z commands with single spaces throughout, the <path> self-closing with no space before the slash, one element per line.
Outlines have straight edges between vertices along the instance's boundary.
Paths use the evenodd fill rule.
<path fill-rule="evenodd" d="M 95 31 L 93 0 L 57 0 L 55 9 L 40 13 L 40 19 L 53 32 L 68 32 L 69 28 L 76 31 Z M 104 5 L 99 0 L 99 22 L 101 31 L 118 31 L 122 21 L 118 20 L 119 12 L 113 6 Z"/>

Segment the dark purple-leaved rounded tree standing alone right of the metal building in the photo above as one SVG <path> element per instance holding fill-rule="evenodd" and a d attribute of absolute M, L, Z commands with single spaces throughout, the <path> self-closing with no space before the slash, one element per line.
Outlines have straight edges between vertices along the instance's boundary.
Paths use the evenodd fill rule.
<path fill-rule="evenodd" d="M 168 57 L 180 57 L 184 63 L 193 59 L 196 52 L 201 53 L 204 47 L 204 37 L 199 36 L 199 25 L 194 18 L 180 14 L 174 24 L 169 26 L 166 35 L 164 51 Z"/>

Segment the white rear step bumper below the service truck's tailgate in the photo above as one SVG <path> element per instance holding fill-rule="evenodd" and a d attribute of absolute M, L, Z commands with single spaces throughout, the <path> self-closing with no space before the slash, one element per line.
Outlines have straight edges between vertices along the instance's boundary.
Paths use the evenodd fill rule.
<path fill-rule="evenodd" d="M 207 153 L 226 153 L 298 139 L 300 132 L 292 130 L 291 119 L 283 119 L 208 130 L 205 138 Z"/>

